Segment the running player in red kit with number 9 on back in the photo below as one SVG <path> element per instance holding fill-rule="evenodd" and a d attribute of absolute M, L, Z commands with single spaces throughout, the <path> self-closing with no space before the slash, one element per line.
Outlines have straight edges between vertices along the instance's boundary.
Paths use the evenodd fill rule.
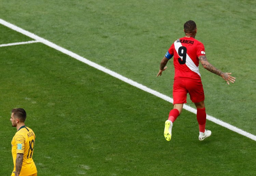
<path fill-rule="evenodd" d="M 234 83 L 236 78 L 230 76 L 231 73 L 223 73 L 207 61 L 203 44 L 195 39 L 197 27 L 194 21 L 185 22 L 184 32 L 185 37 L 177 39 L 163 57 L 157 74 L 157 77 L 162 75 L 162 71 L 167 68 L 167 62 L 174 56 L 173 109 L 165 122 L 164 136 L 167 141 L 171 140 L 173 122 L 181 114 L 183 104 L 187 102 L 187 93 L 189 93 L 191 101 L 194 102 L 197 108 L 198 139 L 203 141 L 210 137 L 212 132 L 205 130 L 206 112 L 203 85 L 199 73 L 199 61 L 205 69 L 221 76 L 227 84 L 229 82 Z"/>

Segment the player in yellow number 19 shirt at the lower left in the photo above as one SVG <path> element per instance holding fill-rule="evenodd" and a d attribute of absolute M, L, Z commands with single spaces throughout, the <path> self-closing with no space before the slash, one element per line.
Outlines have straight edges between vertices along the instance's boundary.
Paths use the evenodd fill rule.
<path fill-rule="evenodd" d="M 11 176 L 37 176 L 37 168 L 32 159 L 35 134 L 25 126 L 26 116 L 26 111 L 22 108 L 12 110 L 10 121 L 17 132 L 12 139 L 14 169 Z"/>

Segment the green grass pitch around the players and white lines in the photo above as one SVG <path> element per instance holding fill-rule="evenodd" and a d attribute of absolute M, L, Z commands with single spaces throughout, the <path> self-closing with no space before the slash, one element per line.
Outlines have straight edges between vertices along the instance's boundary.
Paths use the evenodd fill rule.
<path fill-rule="evenodd" d="M 4 0 L 0 18 L 168 96 L 172 64 L 156 78 L 159 62 L 193 19 L 208 60 L 237 77 L 228 86 L 200 67 L 207 113 L 255 135 L 256 4 L 231 2 Z M 31 40 L 0 31 L 0 44 Z M 41 43 L 0 53 L 0 175 L 13 169 L 16 107 L 36 135 L 38 175 L 256 175 L 251 139 L 208 121 L 213 134 L 200 142 L 196 115 L 184 110 L 167 142 L 169 102 Z"/>

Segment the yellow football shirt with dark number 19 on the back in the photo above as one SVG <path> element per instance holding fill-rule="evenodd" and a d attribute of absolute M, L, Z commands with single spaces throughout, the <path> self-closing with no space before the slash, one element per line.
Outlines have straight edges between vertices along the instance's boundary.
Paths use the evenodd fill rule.
<path fill-rule="evenodd" d="M 14 169 L 11 176 L 15 176 L 15 163 L 18 153 L 24 154 L 20 176 L 28 176 L 37 173 L 37 168 L 32 159 L 35 143 L 35 134 L 27 126 L 22 126 L 12 139 L 12 157 Z"/>

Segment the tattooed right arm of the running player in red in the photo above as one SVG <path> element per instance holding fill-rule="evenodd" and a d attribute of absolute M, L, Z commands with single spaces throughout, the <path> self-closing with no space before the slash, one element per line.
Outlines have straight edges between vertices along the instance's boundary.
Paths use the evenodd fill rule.
<path fill-rule="evenodd" d="M 221 76 L 227 82 L 227 84 L 229 84 L 229 81 L 232 83 L 234 83 L 234 81 L 236 81 L 235 80 L 236 78 L 230 76 L 231 73 L 223 73 L 221 70 L 217 69 L 212 64 L 210 64 L 205 55 L 199 56 L 199 61 L 203 65 L 203 68 L 211 71 L 212 73 L 214 73 L 216 75 Z"/>

